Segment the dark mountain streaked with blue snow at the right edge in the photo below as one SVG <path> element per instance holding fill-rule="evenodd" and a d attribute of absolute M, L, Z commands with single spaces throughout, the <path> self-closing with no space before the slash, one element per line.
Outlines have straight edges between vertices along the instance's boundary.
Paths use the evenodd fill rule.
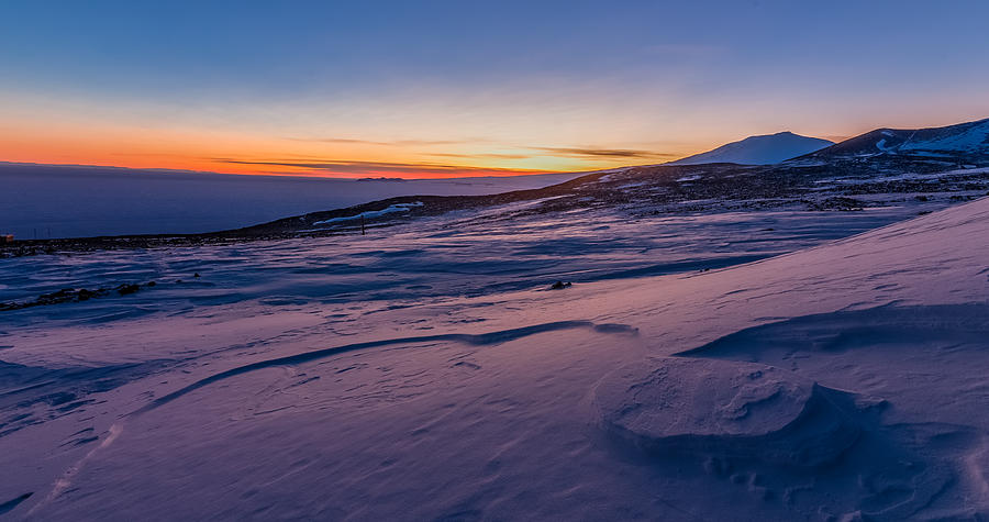
<path fill-rule="evenodd" d="M 877 129 L 807 155 L 835 158 L 893 154 L 955 157 L 989 154 L 989 118 L 931 129 Z"/>

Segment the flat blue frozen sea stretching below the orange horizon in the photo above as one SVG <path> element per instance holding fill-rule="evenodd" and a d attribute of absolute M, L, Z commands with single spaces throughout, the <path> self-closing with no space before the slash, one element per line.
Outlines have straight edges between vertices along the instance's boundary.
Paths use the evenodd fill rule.
<path fill-rule="evenodd" d="M 237 229 L 396 196 L 476 196 L 579 176 L 354 180 L 0 163 L 0 233 L 21 238 Z"/>

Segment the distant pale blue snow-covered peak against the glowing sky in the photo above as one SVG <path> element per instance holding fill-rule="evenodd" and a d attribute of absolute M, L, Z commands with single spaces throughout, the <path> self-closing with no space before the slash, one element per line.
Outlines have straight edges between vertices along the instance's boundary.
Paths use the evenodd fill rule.
<path fill-rule="evenodd" d="M 700 165 L 705 163 L 737 163 L 741 165 L 771 165 L 792 157 L 820 151 L 834 142 L 808 137 L 792 132 L 748 136 L 740 142 L 722 145 L 713 151 L 670 162 L 667 165 Z"/>

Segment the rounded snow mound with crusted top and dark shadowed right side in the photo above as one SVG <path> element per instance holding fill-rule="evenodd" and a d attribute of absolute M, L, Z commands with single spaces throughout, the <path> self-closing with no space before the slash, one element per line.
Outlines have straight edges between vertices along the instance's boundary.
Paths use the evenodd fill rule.
<path fill-rule="evenodd" d="M 670 357 L 605 377 L 596 403 L 605 431 L 648 453 L 757 459 L 818 467 L 834 462 L 859 429 L 834 390 L 752 363 Z"/>

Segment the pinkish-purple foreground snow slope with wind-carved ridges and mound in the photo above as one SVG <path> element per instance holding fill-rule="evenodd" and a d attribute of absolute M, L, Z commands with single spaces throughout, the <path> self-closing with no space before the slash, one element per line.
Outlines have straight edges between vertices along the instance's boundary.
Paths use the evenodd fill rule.
<path fill-rule="evenodd" d="M 987 234 L 982 199 L 721 270 L 401 306 L 203 282 L 187 310 L 5 329 L 4 397 L 52 414 L 4 407 L 23 427 L 0 436 L 0 503 L 44 520 L 978 520 Z M 377 241 L 382 259 L 414 249 Z"/>

